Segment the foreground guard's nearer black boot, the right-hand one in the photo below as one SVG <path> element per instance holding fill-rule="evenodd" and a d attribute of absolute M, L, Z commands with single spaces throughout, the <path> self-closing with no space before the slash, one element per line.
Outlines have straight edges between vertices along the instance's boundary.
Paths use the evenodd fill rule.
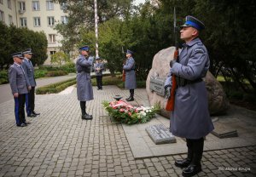
<path fill-rule="evenodd" d="M 194 176 L 195 174 L 201 172 L 201 158 L 203 153 L 203 145 L 203 138 L 200 140 L 195 140 L 193 142 L 193 159 L 192 162 L 189 164 L 189 167 L 183 170 L 184 177 Z"/>

